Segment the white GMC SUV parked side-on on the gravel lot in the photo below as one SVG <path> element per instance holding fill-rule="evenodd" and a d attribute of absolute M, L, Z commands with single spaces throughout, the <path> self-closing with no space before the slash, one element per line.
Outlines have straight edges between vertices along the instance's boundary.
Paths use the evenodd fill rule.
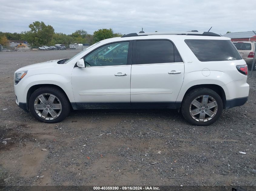
<path fill-rule="evenodd" d="M 248 98 L 247 65 L 230 38 L 211 32 L 131 33 L 71 59 L 18 69 L 16 103 L 45 123 L 71 108 L 170 108 L 207 126 Z"/>

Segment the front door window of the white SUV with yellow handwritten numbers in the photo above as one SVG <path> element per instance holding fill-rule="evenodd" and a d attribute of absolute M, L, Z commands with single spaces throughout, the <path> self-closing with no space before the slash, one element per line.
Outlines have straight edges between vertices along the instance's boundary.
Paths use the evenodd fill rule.
<path fill-rule="evenodd" d="M 101 46 L 85 57 L 85 66 L 126 65 L 129 42 Z"/>

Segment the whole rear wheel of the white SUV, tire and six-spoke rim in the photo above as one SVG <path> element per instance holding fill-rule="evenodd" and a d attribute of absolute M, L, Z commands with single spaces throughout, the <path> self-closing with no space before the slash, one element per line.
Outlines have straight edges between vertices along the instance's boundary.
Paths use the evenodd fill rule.
<path fill-rule="evenodd" d="M 191 124 L 208 126 L 221 116 L 223 103 L 219 94 L 209 88 L 189 92 L 181 103 L 181 113 Z"/>

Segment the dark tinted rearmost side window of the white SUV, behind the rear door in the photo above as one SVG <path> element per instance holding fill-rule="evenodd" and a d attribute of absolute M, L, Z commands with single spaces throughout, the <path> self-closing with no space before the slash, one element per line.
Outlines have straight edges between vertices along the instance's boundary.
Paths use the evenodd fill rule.
<path fill-rule="evenodd" d="M 230 40 L 186 39 L 185 43 L 201 62 L 242 59 Z"/>

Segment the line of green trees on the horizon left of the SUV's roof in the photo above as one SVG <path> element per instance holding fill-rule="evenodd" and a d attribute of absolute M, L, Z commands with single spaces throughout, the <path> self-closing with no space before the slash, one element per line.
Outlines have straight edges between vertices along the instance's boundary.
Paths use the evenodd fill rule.
<path fill-rule="evenodd" d="M 84 29 L 79 29 L 72 34 L 55 33 L 51 25 L 44 22 L 35 21 L 28 26 L 30 30 L 21 33 L 3 33 L 0 31 L 0 44 L 8 46 L 9 40 L 24 40 L 31 46 L 55 45 L 55 44 L 71 44 L 71 43 L 88 43 L 90 45 L 112 37 L 121 37 L 121 33 L 114 33 L 110 29 L 99 29 L 88 34 Z"/>

